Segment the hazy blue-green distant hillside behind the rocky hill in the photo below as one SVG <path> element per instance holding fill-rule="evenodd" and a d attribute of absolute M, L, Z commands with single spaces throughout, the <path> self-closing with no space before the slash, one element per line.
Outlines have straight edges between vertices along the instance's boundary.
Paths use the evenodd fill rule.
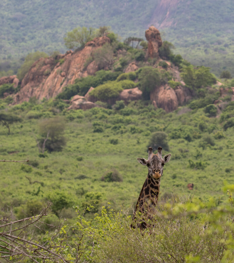
<path fill-rule="evenodd" d="M 1 2 L 0 71 L 17 68 L 29 52 L 65 51 L 63 37 L 77 26 L 110 25 L 123 39 L 143 37 L 154 25 L 176 53 L 219 75 L 233 72 L 233 4 L 228 1 L 8 1 Z M 21 59 L 21 60 L 20 60 Z"/>

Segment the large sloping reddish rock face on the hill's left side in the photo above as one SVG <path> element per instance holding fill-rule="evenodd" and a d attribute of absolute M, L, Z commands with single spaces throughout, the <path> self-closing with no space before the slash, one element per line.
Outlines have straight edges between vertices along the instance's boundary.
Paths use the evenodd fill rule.
<path fill-rule="evenodd" d="M 54 98 L 64 86 L 74 84 L 75 79 L 94 74 L 98 70 L 97 65 L 92 62 L 85 69 L 86 61 L 95 49 L 105 43 L 110 43 L 109 37 L 94 38 L 80 51 L 68 51 L 64 55 L 57 56 L 57 63 L 52 57 L 40 58 L 25 75 L 14 103 L 29 101 L 32 96 L 39 100 Z"/>

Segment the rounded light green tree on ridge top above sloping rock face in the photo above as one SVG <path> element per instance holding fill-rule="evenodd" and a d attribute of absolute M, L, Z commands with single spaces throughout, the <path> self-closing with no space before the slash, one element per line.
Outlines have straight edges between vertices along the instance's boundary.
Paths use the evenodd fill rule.
<path fill-rule="evenodd" d="M 68 49 L 82 48 L 85 44 L 94 38 L 94 29 L 90 27 L 76 27 L 72 31 L 67 32 L 63 38 L 65 46 Z"/>

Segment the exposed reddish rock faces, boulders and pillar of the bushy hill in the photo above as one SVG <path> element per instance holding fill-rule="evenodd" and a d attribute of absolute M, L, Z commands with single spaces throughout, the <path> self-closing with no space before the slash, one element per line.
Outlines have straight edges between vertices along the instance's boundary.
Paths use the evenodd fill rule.
<path fill-rule="evenodd" d="M 166 71 L 173 76 L 173 80 L 177 81 L 179 85 L 176 89 L 171 88 L 168 84 L 161 85 L 150 92 L 150 100 L 157 108 L 163 108 L 167 112 L 175 110 L 179 105 L 185 104 L 190 100 L 192 93 L 185 87 L 185 83 L 181 81 L 180 72 L 178 67 L 173 63 L 162 60 L 159 56 L 159 48 L 163 42 L 160 37 L 159 30 L 151 26 L 145 32 L 146 39 L 148 40 L 148 49 L 144 51 L 145 58 L 142 62 L 133 60 L 125 67 L 124 72 L 131 72 L 138 70 L 139 67 L 149 65 L 147 59 L 156 59 L 158 63 L 154 65 L 154 68 L 164 70 L 160 65 L 164 62 L 164 68 L 166 65 Z M 92 41 L 87 42 L 85 47 L 80 51 L 67 51 L 64 55 L 57 55 L 56 57 L 40 58 L 37 60 L 21 83 L 20 91 L 14 95 L 14 104 L 22 103 L 23 101 L 29 101 L 31 97 L 35 97 L 38 100 L 43 98 L 55 98 L 59 93 L 64 90 L 64 87 L 75 83 L 76 79 L 87 77 L 88 75 L 94 75 L 99 70 L 99 67 L 95 60 L 88 62 L 88 59 L 95 50 L 100 49 L 105 44 L 109 44 L 109 37 L 94 38 Z M 124 50 L 119 50 L 116 53 L 116 57 L 113 60 L 118 61 L 123 57 Z M 166 63 L 166 64 L 165 64 Z M 112 65 L 113 66 L 113 65 Z M 139 66 L 139 67 L 138 67 Z M 155 84 L 156 85 L 156 84 Z M 92 90 L 91 88 L 88 93 Z M 123 100 L 127 103 L 130 100 L 137 100 L 141 98 L 142 91 L 137 87 L 132 89 L 124 89 L 114 100 L 109 103 L 114 103 L 116 100 Z M 92 108 L 94 103 L 99 100 L 94 96 L 80 96 L 76 95 L 71 100 L 71 106 L 69 109 L 87 109 Z M 89 103 L 87 103 L 89 101 Z"/>

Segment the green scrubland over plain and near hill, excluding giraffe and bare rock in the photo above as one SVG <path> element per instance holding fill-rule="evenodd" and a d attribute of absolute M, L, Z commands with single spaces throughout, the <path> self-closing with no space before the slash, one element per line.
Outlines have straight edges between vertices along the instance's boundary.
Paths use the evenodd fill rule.
<path fill-rule="evenodd" d="M 101 34 L 109 43 L 85 63 L 98 70 L 56 97 L 16 104 L 21 86 L 0 86 L 0 159 L 29 160 L 0 162 L 2 262 L 233 262 L 234 80 L 193 66 L 167 41 L 150 58 L 146 41 Z M 133 61 L 138 69 L 124 73 Z M 96 107 L 68 110 L 91 86 Z M 191 97 L 172 111 L 155 107 L 161 86 Z M 135 87 L 141 99 L 118 99 Z M 172 157 L 156 226 L 142 234 L 130 224 L 147 176 L 136 158 L 149 146 Z"/>

